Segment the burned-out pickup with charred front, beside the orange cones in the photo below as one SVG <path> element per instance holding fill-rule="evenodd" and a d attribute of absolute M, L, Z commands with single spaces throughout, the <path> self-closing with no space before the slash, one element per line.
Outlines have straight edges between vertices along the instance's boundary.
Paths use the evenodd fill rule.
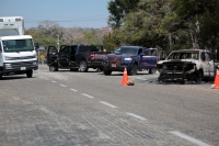
<path fill-rule="evenodd" d="M 160 76 L 159 82 L 195 81 L 200 83 L 203 79 L 215 77 L 215 65 L 209 50 L 181 49 L 173 50 L 165 60 L 157 64 Z"/>

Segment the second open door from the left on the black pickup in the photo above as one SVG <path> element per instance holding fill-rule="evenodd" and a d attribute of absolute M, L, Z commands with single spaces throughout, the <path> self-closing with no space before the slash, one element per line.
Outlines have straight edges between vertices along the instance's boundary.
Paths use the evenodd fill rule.
<path fill-rule="evenodd" d="M 70 63 L 70 48 L 71 46 L 61 46 L 58 53 L 58 63 L 61 67 L 69 67 Z"/>

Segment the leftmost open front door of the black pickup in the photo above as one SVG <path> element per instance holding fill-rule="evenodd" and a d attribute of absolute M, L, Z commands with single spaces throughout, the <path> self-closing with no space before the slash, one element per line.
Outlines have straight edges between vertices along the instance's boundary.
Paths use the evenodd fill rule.
<path fill-rule="evenodd" d="M 58 50 L 55 46 L 48 46 L 47 49 L 47 65 L 57 64 Z"/>

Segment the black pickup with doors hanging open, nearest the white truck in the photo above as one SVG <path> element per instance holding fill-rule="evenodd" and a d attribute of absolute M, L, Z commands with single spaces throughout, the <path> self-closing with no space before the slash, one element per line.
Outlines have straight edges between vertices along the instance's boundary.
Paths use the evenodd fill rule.
<path fill-rule="evenodd" d="M 107 52 L 99 52 L 94 45 L 62 45 L 60 49 L 48 46 L 47 66 L 50 71 L 70 69 L 71 71 L 88 71 L 89 68 L 103 70 L 102 60 Z"/>

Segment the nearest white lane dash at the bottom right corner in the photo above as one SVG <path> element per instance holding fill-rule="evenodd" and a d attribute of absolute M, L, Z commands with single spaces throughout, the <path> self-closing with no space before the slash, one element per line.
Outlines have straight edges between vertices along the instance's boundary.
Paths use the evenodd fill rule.
<path fill-rule="evenodd" d="M 192 142 L 192 143 L 198 145 L 198 146 L 210 146 L 210 145 L 208 145 L 208 144 L 206 144 L 206 143 L 199 141 L 199 139 L 193 138 L 193 137 L 187 136 L 187 135 L 185 135 L 185 134 L 183 134 L 183 133 L 181 133 L 181 132 L 177 132 L 177 131 L 171 131 L 170 133 L 172 133 L 172 134 L 174 134 L 174 135 L 176 135 L 176 136 L 178 136 L 178 137 L 182 137 L 182 138 L 184 138 L 184 139 L 187 139 L 187 141 L 189 141 L 189 142 Z"/>

